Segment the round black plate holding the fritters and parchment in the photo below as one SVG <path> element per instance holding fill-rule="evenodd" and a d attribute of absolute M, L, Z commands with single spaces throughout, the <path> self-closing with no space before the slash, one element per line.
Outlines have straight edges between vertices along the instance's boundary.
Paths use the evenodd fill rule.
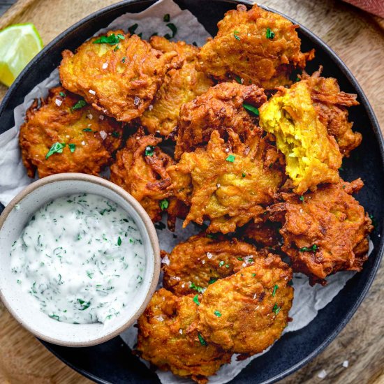
<path fill-rule="evenodd" d="M 216 24 L 236 3 L 251 1 L 230 0 L 175 0 L 181 8 L 188 8 L 210 34 L 216 34 Z M 59 65 L 61 51 L 74 50 L 84 40 L 126 12 L 140 12 L 154 0 L 122 1 L 90 15 L 65 31 L 34 58 L 17 78 L 0 106 L 0 133 L 13 126 L 13 109 L 24 96 Z M 289 19 L 289 17 L 287 17 Z M 350 109 L 355 129 L 363 135 L 362 145 L 344 160 L 341 176 L 347 181 L 362 177 L 364 189 L 357 195 L 362 205 L 376 219 L 371 236 L 374 251 L 361 273 L 355 274 L 343 290 L 318 316 L 302 330 L 285 334 L 265 355 L 253 360 L 232 383 L 273 383 L 293 373 L 318 355 L 348 323 L 371 286 L 383 253 L 384 172 L 383 137 L 371 106 L 355 77 L 336 54 L 308 29 L 301 27 L 303 52 L 314 47 L 316 59 L 307 66 L 312 73 L 321 64 L 323 75 L 336 77 L 343 91 L 358 95 L 360 105 Z M 2 208 L 2 207 L 0 207 Z M 84 376 L 98 383 L 158 383 L 153 371 L 145 367 L 118 337 L 99 346 L 66 348 L 44 343 L 57 357 Z"/>

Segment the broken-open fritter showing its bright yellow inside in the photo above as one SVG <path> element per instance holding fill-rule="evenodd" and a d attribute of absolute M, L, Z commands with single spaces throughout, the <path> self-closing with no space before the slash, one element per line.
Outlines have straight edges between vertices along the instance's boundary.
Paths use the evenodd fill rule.
<path fill-rule="evenodd" d="M 316 115 L 307 82 L 282 88 L 260 108 L 260 126 L 276 137 L 286 157 L 286 174 L 295 193 L 337 183 L 342 156 L 333 136 Z"/>

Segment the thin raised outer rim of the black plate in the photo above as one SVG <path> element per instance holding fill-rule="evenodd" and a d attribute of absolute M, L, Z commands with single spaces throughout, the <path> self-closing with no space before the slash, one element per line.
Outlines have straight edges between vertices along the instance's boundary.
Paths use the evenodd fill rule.
<path fill-rule="evenodd" d="M 95 20 L 98 19 L 103 13 L 109 13 L 111 11 L 119 10 L 121 8 L 121 15 L 123 13 L 129 12 L 129 10 L 126 10 L 127 6 L 133 5 L 133 4 L 139 4 L 142 3 L 143 5 L 147 4 L 148 6 L 151 6 L 152 3 L 154 3 L 154 0 L 122 0 L 118 3 L 112 4 L 110 6 L 106 6 L 104 8 L 101 8 L 100 10 L 96 10 L 94 13 L 91 13 L 87 15 L 86 17 L 82 18 L 75 24 L 73 24 L 71 27 L 68 27 L 65 31 L 61 32 L 56 38 L 54 38 L 50 43 L 48 43 L 42 51 L 40 51 L 34 59 L 30 61 L 30 63 L 24 68 L 22 73 L 17 77 L 15 82 L 11 85 L 10 89 L 8 89 L 6 96 L 4 96 L 3 101 L 0 104 L 0 117 L 3 114 L 4 110 L 6 109 L 6 105 L 8 104 L 8 101 L 10 100 L 11 96 L 13 96 L 14 92 L 17 92 L 17 87 L 21 82 L 23 82 L 25 75 L 29 73 L 31 68 L 34 67 L 36 64 L 36 61 L 40 61 L 40 59 L 43 59 L 43 57 L 49 52 L 50 50 L 54 49 L 54 46 L 60 43 L 60 41 L 68 34 L 73 33 L 82 26 L 82 24 L 89 23 L 89 22 L 95 22 Z M 313 43 L 318 45 L 321 49 L 323 49 L 325 52 L 327 52 L 328 56 L 334 61 L 334 64 L 339 68 L 339 70 L 346 76 L 348 82 L 352 84 L 352 86 L 356 89 L 357 95 L 360 98 L 361 105 L 366 110 L 367 115 L 369 117 L 369 125 L 374 131 L 374 135 L 376 137 L 376 140 L 378 142 L 378 148 L 381 155 L 381 165 L 384 167 L 384 138 L 383 133 L 381 132 L 380 126 L 378 124 L 378 120 L 376 118 L 376 115 L 374 114 L 374 111 L 371 107 L 371 104 L 368 101 L 367 96 L 364 94 L 364 91 L 362 90 L 362 87 L 360 87 L 360 84 L 357 82 L 355 76 L 350 71 L 348 66 L 344 63 L 344 61 L 341 60 L 341 58 L 332 50 L 332 48 L 327 45 L 322 39 L 320 39 L 316 34 L 313 34 L 307 27 L 304 27 L 304 25 L 300 24 L 296 20 L 294 20 L 292 17 L 287 16 L 284 13 L 279 12 L 278 10 L 274 8 L 270 8 L 268 6 L 265 6 L 263 4 L 258 3 L 258 1 L 253 2 L 252 0 L 211 0 L 212 3 L 231 3 L 234 6 L 237 6 L 238 4 L 244 4 L 245 6 L 248 6 L 250 8 L 255 3 L 258 4 L 261 8 L 264 8 L 265 10 L 269 10 L 270 12 L 276 13 L 278 15 L 282 15 L 283 17 L 286 17 L 287 20 L 290 20 L 290 22 L 293 22 L 294 24 L 299 25 L 300 27 L 300 33 L 309 38 Z M 384 222 L 384 219 L 383 219 Z M 332 333 L 323 341 L 320 346 L 318 346 L 315 350 L 313 350 L 312 353 L 307 355 L 304 359 L 302 359 L 297 364 L 293 365 L 292 367 L 289 367 L 288 369 L 279 372 L 279 374 L 276 374 L 275 376 L 268 378 L 267 380 L 263 381 L 261 384 L 270 384 L 270 383 L 276 383 L 276 381 L 281 380 L 282 378 L 285 378 L 286 376 L 293 374 L 293 372 L 297 371 L 297 369 L 300 369 L 304 365 L 308 364 L 311 360 L 313 360 L 314 357 L 316 357 L 319 353 L 321 353 L 330 343 L 333 341 L 337 335 L 343 330 L 343 328 L 346 326 L 346 324 L 350 321 L 350 319 L 353 317 L 355 312 L 357 311 L 358 307 L 360 307 L 360 304 L 362 303 L 362 300 L 364 300 L 364 297 L 366 297 L 369 288 L 371 288 L 371 285 L 374 281 L 374 278 L 376 276 L 376 273 L 378 271 L 378 268 L 381 264 L 381 259 L 383 258 L 384 253 L 384 228 L 381 232 L 381 241 L 379 246 L 377 247 L 377 254 L 376 254 L 376 260 L 369 271 L 369 276 L 367 277 L 367 282 L 365 283 L 364 289 L 360 292 L 360 295 L 358 295 L 355 298 L 355 304 L 353 307 L 346 312 L 344 319 L 337 325 L 337 327 L 334 327 L 334 330 Z M 83 376 L 90 378 L 91 380 L 94 380 L 98 383 L 109 383 L 108 381 L 105 381 L 98 376 L 95 376 L 90 371 L 86 371 L 85 369 L 82 369 L 81 367 L 75 366 L 73 363 L 68 362 L 64 357 L 61 357 L 60 354 L 56 351 L 50 348 L 50 346 L 47 346 L 45 343 L 43 343 L 47 349 L 49 349 L 54 355 L 59 357 L 59 359 L 63 362 L 65 362 L 69 367 L 72 367 L 75 369 L 75 371 L 80 372 Z"/>

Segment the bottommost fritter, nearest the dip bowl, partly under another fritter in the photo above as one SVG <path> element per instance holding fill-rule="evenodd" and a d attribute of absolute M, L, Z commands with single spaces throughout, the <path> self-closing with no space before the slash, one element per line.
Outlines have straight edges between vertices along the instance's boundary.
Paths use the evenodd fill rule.
<path fill-rule="evenodd" d="M 163 371 L 207 383 L 231 355 L 192 329 L 196 318 L 193 295 L 176 297 L 161 288 L 138 319 L 138 353 Z"/>

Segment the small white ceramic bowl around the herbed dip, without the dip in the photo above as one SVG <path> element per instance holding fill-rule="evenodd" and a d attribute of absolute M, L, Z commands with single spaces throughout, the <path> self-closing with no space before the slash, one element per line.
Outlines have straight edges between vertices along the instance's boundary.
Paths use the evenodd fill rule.
<path fill-rule="evenodd" d="M 116 202 L 133 218 L 145 246 L 146 267 L 140 290 L 120 315 L 106 325 L 58 322 L 40 311 L 28 293 L 22 292 L 10 270 L 10 247 L 29 218 L 55 198 L 73 193 L 93 193 Z M 154 225 L 140 203 L 119 186 L 101 177 L 80 173 L 58 174 L 34 182 L 19 193 L 0 216 L 0 298 L 10 313 L 40 339 L 62 346 L 92 346 L 126 330 L 145 310 L 160 274 L 160 251 Z"/>

